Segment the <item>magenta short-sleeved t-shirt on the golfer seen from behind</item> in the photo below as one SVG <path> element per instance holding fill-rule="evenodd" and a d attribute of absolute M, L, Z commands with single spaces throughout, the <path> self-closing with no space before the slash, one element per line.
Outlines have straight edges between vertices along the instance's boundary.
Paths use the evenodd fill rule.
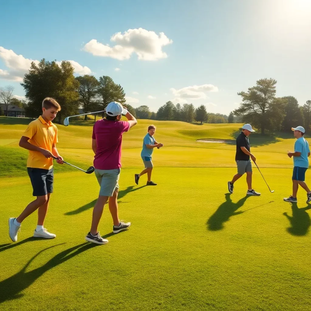
<path fill-rule="evenodd" d="M 93 127 L 92 138 L 96 139 L 95 169 L 118 169 L 121 167 L 122 134 L 130 124 L 126 121 L 101 119 Z"/>

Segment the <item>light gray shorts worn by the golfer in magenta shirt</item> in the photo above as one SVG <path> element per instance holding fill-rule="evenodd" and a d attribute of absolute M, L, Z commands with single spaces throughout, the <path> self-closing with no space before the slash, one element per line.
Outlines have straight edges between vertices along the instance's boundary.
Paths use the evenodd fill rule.
<path fill-rule="evenodd" d="M 112 197 L 119 189 L 120 169 L 95 169 L 95 176 L 100 185 L 99 195 Z"/>

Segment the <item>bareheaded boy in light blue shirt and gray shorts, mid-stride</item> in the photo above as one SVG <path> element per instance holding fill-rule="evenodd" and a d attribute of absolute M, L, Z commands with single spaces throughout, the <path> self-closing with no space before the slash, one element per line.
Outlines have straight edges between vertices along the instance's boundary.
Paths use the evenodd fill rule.
<path fill-rule="evenodd" d="M 142 152 L 141 157 L 142 161 L 144 162 L 145 169 L 140 174 L 135 174 L 135 183 L 138 185 L 139 178 L 147 174 L 147 186 L 156 186 L 157 184 L 151 181 L 151 173 L 153 169 L 153 164 L 151 161 L 151 156 L 153 152 L 153 148 L 161 148 L 163 144 L 157 143 L 155 138 L 153 137 L 154 133 L 156 132 L 156 127 L 154 125 L 150 125 L 148 127 L 148 133 L 144 137 L 144 141 L 142 143 Z"/>

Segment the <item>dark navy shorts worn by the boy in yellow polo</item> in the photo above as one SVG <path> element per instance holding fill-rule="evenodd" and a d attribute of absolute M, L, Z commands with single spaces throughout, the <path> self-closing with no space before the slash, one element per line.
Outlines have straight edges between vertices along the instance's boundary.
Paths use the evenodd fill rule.
<path fill-rule="evenodd" d="M 51 169 L 34 169 L 27 167 L 34 197 L 40 197 L 53 192 L 53 167 Z"/>

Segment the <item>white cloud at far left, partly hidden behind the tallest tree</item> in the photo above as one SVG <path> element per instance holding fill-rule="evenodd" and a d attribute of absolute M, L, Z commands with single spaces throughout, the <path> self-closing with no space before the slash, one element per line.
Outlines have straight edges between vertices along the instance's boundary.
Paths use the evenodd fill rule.
<path fill-rule="evenodd" d="M 0 78 L 6 80 L 23 81 L 23 77 L 25 73 L 29 71 L 31 63 L 39 64 L 38 60 L 25 58 L 23 55 L 17 55 L 14 51 L 5 49 L 2 46 L 0 46 L 0 58 L 3 60 L 5 66 L 10 69 L 9 71 L 0 69 Z M 69 60 L 68 62 L 72 64 L 74 72 L 79 75 L 91 73 L 91 69 L 86 66 L 83 67 L 73 60 Z M 61 62 L 56 63 L 58 65 L 61 64 Z"/>

